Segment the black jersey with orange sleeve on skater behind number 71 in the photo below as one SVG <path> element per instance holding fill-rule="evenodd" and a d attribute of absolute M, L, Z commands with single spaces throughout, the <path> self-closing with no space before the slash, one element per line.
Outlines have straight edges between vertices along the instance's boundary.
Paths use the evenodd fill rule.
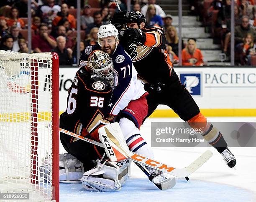
<path fill-rule="evenodd" d="M 172 75 L 172 62 L 166 51 L 164 29 L 147 25 L 141 30 L 146 34 L 145 45 L 127 44 L 122 36 L 120 42 L 125 51 L 131 55 L 138 78 L 142 82 L 150 84 L 164 82 Z"/>

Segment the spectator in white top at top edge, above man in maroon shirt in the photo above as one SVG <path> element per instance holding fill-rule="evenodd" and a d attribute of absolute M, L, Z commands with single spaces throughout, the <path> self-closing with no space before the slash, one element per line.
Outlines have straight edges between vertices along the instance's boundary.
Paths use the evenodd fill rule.
<path fill-rule="evenodd" d="M 51 27 L 54 17 L 60 11 L 61 7 L 59 5 L 55 5 L 54 0 L 46 0 L 44 5 L 38 7 L 37 16 L 41 17 L 42 21 Z"/>

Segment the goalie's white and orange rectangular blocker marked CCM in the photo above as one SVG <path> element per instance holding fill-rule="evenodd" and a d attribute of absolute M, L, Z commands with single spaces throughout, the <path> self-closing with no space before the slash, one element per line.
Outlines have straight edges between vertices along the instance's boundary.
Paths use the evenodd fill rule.
<path fill-rule="evenodd" d="M 99 139 L 111 162 L 118 162 L 132 156 L 117 122 L 101 127 Z"/>

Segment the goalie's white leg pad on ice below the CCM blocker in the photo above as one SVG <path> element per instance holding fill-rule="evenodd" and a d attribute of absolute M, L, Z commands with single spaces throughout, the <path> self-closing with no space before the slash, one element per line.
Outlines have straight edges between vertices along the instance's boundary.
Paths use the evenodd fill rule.
<path fill-rule="evenodd" d="M 98 161 L 97 167 L 84 173 L 83 187 L 89 191 L 113 192 L 121 189 L 128 178 L 131 160 Z"/>

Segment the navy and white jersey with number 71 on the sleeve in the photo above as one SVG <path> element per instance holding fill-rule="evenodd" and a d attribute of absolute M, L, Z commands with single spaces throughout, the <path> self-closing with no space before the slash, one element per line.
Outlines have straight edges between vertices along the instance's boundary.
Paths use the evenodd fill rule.
<path fill-rule="evenodd" d="M 101 50 L 99 45 L 86 47 L 80 57 L 79 67 L 87 65 L 88 57 L 94 50 Z M 117 75 L 117 86 L 113 88 L 113 94 L 108 105 L 108 113 L 117 115 L 123 110 L 131 100 L 137 100 L 146 93 L 141 81 L 137 80 L 137 71 L 135 70 L 131 57 L 118 45 L 115 52 L 111 55 L 114 65 L 114 71 Z"/>

